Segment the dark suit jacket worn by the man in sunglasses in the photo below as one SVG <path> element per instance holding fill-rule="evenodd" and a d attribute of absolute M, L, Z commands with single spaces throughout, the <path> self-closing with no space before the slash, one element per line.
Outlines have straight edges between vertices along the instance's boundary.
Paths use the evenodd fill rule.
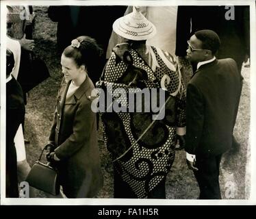
<path fill-rule="evenodd" d="M 220 155 L 231 147 L 240 99 L 240 74 L 232 59 L 199 67 L 187 88 L 185 151 Z"/>

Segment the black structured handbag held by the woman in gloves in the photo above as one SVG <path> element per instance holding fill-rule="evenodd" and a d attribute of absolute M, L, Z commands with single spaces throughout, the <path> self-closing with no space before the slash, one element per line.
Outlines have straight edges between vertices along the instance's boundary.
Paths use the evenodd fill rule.
<path fill-rule="evenodd" d="M 42 149 L 42 153 L 45 149 L 46 147 Z M 40 162 L 42 153 L 38 161 L 32 166 L 26 181 L 30 186 L 55 196 L 60 193 L 58 172 L 56 168 L 53 168 L 50 165 L 50 163 L 43 164 Z"/>

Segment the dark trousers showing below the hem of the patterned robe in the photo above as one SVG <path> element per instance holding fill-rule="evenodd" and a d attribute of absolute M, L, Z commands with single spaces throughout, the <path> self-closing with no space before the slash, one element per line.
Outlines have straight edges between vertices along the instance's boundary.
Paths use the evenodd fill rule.
<path fill-rule="evenodd" d="M 151 192 L 147 198 L 166 198 L 166 180 L 161 181 Z M 114 198 L 138 198 L 131 190 L 131 187 L 123 181 L 118 172 L 114 170 Z"/>

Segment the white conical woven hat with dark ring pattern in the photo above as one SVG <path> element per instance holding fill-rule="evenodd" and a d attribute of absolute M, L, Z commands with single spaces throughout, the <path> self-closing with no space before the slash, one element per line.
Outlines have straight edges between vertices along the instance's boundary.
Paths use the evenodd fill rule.
<path fill-rule="evenodd" d="M 129 40 L 147 40 L 155 36 L 157 32 L 155 25 L 135 7 L 133 7 L 133 12 L 118 18 L 113 23 L 113 30 L 119 36 Z"/>

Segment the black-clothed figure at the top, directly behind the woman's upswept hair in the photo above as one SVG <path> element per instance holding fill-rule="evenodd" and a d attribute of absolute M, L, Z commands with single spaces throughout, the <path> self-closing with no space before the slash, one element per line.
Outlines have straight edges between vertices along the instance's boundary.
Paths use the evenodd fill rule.
<path fill-rule="evenodd" d="M 112 31 L 112 23 L 123 15 L 126 7 L 122 5 L 60 5 L 49 6 L 51 21 L 57 22 L 57 49 L 59 53 L 78 36 L 90 36 L 97 40 L 103 55 L 90 79 L 95 84 L 105 65 L 107 44 Z M 99 18 L 101 17 L 101 18 Z M 102 19 L 104 17 L 104 19 Z"/>

